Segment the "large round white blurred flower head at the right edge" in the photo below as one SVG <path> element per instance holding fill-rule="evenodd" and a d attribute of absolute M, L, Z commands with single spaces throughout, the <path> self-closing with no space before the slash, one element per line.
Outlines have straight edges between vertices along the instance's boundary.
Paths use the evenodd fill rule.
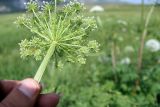
<path fill-rule="evenodd" d="M 160 50 L 160 42 L 156 39 L 150 39 L 145 43 L 146 48 L 151 52 L 157 52 Z"/>

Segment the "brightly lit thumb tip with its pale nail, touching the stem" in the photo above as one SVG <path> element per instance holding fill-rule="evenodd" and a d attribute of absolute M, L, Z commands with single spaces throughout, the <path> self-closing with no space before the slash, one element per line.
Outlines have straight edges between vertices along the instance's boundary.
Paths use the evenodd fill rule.
<path fill-rule="evenodd" d="M 18 87 L 25 96 L 32 98 L 38 93 L 39 86 L 31 79 L 26 79 L 21 82 Z"/>

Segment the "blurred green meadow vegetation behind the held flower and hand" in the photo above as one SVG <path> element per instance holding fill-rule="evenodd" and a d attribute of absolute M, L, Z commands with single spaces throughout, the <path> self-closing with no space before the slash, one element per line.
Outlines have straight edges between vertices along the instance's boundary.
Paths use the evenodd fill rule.
<path fill-rule="evenodd" d="M 144 23 L 151 5 L 101 4 L 104 11 L 85 14 L 95 16 L 99 28 L 90 34 L 100 44 L 100 52 L 85 65 L 65 64 L 61 70 L 50 65 L 43 77 L 44 93 L 56 91 L 59 107 L 159 107 L 160 49 L 144 47 L 140 72 L 138 51 Z M 22 60 L 18 43 L 30 38 L 27 30 L 14 25 L 22 13 L 0 14 L 0 79 L 22 80 L 33 77 L 40 62 Z M 151 16 L 145 43 L 160 41 L 160 6 Z M 138 84 L 136 83 L 138 81 Z"/>

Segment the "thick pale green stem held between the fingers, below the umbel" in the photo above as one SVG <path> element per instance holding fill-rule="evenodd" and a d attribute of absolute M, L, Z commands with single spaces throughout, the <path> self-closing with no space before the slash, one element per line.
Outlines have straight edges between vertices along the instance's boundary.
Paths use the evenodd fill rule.
<path fill-rule="evenodd" d="M 47 64 L 48 64 L 48 62 L 50 61 L 50 58 L 52 57 L 52 55 L 53 55 L 53 53 L 54 53 L 54 51 L 55 51 L 55 44 L 56 44 L 55 42 L 53 42 L 53 43 L 51 44 L 50 48 L 49 48 L 48 51 L 47 51 L 46 56 L 44 57 L 41 65 L 39 66 L 39 68 L 38 68 L 38 70 L 37 70 L 37 73 L 36 73 L 36 75 L 35 75 L 35 77 L 34 77 L 34 79 L 35 79 L 37 82 L 40 82 L 40 81 L 41 81 L 41 78 L 42 78 L 42 76 L 43 76 L 43 74 L 44 74 L 44 71 L 45 71 L 45 69 L 46 69 L 46 67 L 47 67 Z"/>

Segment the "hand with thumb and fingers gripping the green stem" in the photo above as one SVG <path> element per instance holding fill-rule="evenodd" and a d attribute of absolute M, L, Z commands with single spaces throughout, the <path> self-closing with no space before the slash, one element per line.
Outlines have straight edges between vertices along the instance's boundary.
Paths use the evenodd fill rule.
<path fill-rule="evenodd" d="M 33 79 L 0 81 L 0 107 L 56 107 L 56 94 L 40 94 L 41 87 Z"/>

